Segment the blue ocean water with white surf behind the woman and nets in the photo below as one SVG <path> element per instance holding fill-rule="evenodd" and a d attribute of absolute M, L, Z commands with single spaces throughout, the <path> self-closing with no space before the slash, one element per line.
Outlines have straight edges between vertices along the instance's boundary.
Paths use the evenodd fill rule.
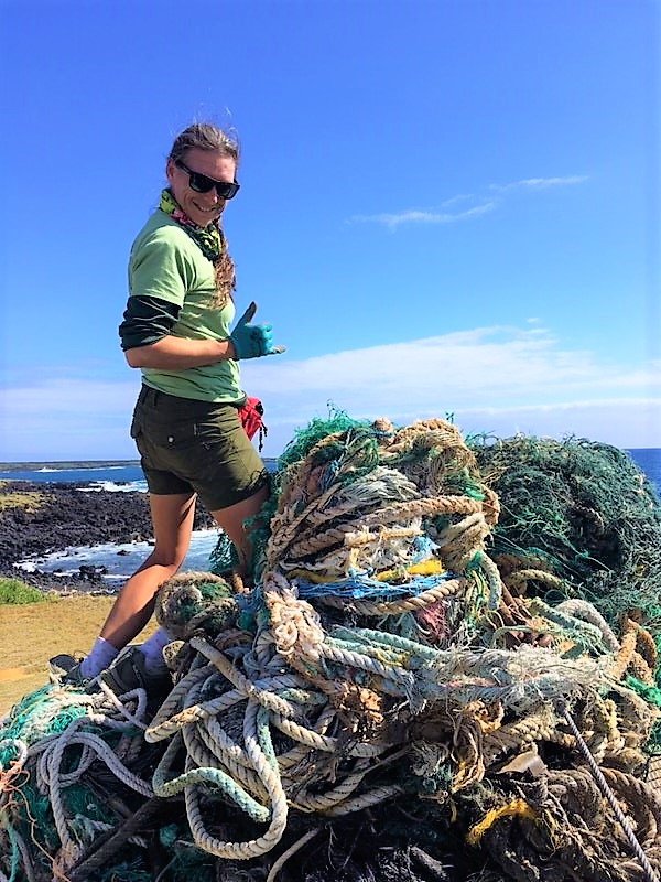
<path fill-rule="evenodd" d="M 661 448 L 644 448 L 627 451 L 638 467 L 647 475 L 661 499 Z M 275 460 L 264 460 L 268 469 L 274 471 Z M 106 490 L 115 493 L 129 491 L 147 492 L 147 484 L 140 463 L 137 460 L 93 461 L 93 462 L 24 462 L 0 463 L 0 481 L 31 481 L 34 483 L 76 483 L 80 492 L 95 493 Z M 204 571 L 208 568 L 209 555 L 218 541 L 218 530 L 195 530 L 184 570 Z M 20 569 L 25 572 L 42 570 L 57 572 L 66 579 L 77 573 L 83 564 L 104 567 L 105 585 L 119 588 L 149 555 L 151 546 L 147 542 L 127 545 L 97 545 L 67 548 L 40 558 L 26 558 Z"/>

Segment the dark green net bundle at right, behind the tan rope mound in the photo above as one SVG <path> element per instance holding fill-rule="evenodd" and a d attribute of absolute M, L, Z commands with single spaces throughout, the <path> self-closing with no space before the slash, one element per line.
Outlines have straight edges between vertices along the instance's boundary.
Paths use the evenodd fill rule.
<path fill-rule="evenodd" d="M 549 569 L 610 622 L 644 610 L 661 628 L 661 505 L 626 452 L 575 438 L 470 444 L 500 499 L 497 559 Z"/>

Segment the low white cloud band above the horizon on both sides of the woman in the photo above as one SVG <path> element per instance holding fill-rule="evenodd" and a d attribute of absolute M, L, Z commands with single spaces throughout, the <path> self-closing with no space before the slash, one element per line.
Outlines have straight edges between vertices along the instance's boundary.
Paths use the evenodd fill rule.
<path fill-rule="evenodd" d="M 478 327 L 444 336 L 294 361 L 242 366 L 245 388 L 261 396 L 278 455 L 295 427 L 326 417 L 327 404 L 356 418 L 455 415 L 465 432 L 564 437 L 618 447 L 658 447 L 661 365 L 621 366 L 563 347 L 548 330 Z M 3 395 L 0 460 L 131 459 L 129 422 L 138 377 L 44 380 Z"/>

